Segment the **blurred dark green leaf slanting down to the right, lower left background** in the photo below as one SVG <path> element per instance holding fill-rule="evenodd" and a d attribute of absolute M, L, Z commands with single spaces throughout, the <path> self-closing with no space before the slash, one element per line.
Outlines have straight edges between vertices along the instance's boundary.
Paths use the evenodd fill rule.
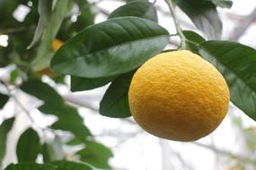
<path fill-rule="evenodd" d="M 52 124 L 52 128 L 73 132 L 81 140 L 92 135 L 75 107 L 66 105 L 63 98 L 48 84 L 41 81 L 27 81 L 22 84 L 21 89 L 44 101 L 39 107 L 40 112 L 57 116 L 58 120 Z"/>

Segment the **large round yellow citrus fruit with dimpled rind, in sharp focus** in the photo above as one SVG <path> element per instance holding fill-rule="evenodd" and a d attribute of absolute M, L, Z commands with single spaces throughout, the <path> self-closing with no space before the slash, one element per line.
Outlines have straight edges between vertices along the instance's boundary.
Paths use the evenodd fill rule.
<path fill-rule="evenodd" d="M 229 89 L 216 68 L 187 50 L 162 53 L 135 73 L 131 114 L 146 132 L 168 140 L 199 140 L 223 121 Z"/>

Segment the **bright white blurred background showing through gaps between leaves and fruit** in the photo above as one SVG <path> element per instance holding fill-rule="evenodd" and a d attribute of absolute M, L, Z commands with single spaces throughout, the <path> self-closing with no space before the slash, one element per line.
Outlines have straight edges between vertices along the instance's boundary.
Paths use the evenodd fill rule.
<path fill-rule="evenodd" d="M 117 8 L 121 3 L 115 1 L 103 1 L 100 5 L 102 8 L 107 11 L 112 11 Z M 164 3 L 164 0 L 158 0 L 157 4 L 163 7 L 163 10 L 168 12 L 168 8 Z M 231 21 L 228 17 L 229 14 L 238 14 L 246 16 L 252 12 L 256 6 L 255 0 L 234 0 L 234 6 L 231 10 L 219 9 L 220 16 L 224 24 L 224 33 L 223 38 L 228 38 L 228 35 L 238 23 Z M 179 11 L 179 13 L 181 13 Z M 184 14 L 179 14 L 181 21 L 188 21 L 189 19 Z M 96 19 L 97 22 L 103 21 L 104 17 L 99 15 Z M 171 18 L 167 18 L 165 15 L 159 13 L 159 22 L 160 24 L 170 30 L 170 32 L 175 33 L 175 28 Z M 189 21 L 190 22 L 190 21 Z M 191 22 L 190 22 L 191 23 Z M 182 25 L 182 24 L 181 24 Z M 184 28 L 184 27 L 183 27 Z M 243 44 L 250 45 L 254 47 L 256 45 L 256 34 L 255 24 L 252 25 L 246 33 L 240 38 L 240 41 Z M 2 38 L 3 39 L 3 38 Z M 0 39 L 0 44 L 3 44 L 4 41 Z M 3 77 L 6 74 L 3 70 L 0 70 L 0 77 Z M 45 81 L 50 82 L 49 79 Z M 105 88 L 94 89 L 88 92 L 78 92 L 75 95 L 75 98 L 83 100 L 84 102 L 92 102 L 93 106 L 98 106 L 100 99 L 102 98 L 102 93 Z M 70 95 L 66 87 L 59 87 L 58 90 L 63 95 Z M 35 104 L 34 100 L 28 100 L 23 95 L 21 95 L 23 102 L 32 102 Z M 32 108 L 34 105 L 31 105 Z M 3 112 L 13 112 L 12 103 L 9 103 L 4 107 L 4 110 L 0 113 L 0 123 L 1 118 L 3 118 Z M 99 136 L 97 139 L 101 140 L 104 144 L 113 149 L 115 157 L 110 160 L 112 166 L 115 167 L 115 170 L 186 170 L 186 167 L 182 164 L 187 165 L 188 170 L 223 170 L 225 168 L 224 157 L 216 157 L 216 154 L 209 149 L 203 149 L 193 143 L 183 143 L 176 141 L 167 141 L 160 140 L 146 132 L 141 132 L 142 130 L 134 124 L 120 121 L 119 119 L 112 119 L 108 117 L 103 117 L 97 113 L 93 113 L 89 109 L 80 108 L 80 113 L 84 117 L 85 123 L 89 129 Z M 32 111 L 32 115 L 39 120 L 43 119 L 41 115 Z M 252 121 L 249 117 L 244 115 L 239 109 L 235 106 L 230 106 L 229 115 L 225 118 L 224 122 L 216 129 L 215 132 L 199 140 L 200 143 L 205 143 L 209 145 L 214 145 L 217 149 L 229 150 L 234 153 L 246 154 L 244 153 L 243 140 L 241 140 L 239 131 L 231 123 L 231 116 L 241 116 L 243 118 L 243 123 L 245 126 L 254 125 L 255 122 Z M 16 123 L 18 128 L 13 134 L 18 135 L 25 128 L 21 128 L 24 124 L 25 116 L 20 115 L 19 122 Z M 140 132 L 137 135 L 136 132 Z M 121 140 L 120 139 L 124 139 Z M 8 156 L 5 157 L 5 163 L 9 163 L 15 160 L 13 157 L 13 150 L 8 149 Z M 181 161 L 183 160 L 183 163 Z M 216 166 L 220 164 L 220 166 Z M 118 168 L 119 167 L 119 168 Z M 165 169 L 163 168 L 165 167 Z"/>

